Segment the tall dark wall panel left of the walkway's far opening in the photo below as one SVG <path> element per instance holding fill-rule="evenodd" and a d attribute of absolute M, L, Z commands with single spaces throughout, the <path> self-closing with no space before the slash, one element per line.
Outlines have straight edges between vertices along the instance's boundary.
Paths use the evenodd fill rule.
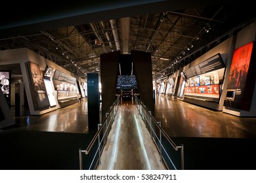
<path fill-rule="evenodd" d="M 100 55 L 102 122 L 104 122 L 106 118 L 106 112 L 109 112 L 110 106 L 113 105 L 116 99 L 117 75 L 119 73 L 119 55 L 119 51 Z"/>

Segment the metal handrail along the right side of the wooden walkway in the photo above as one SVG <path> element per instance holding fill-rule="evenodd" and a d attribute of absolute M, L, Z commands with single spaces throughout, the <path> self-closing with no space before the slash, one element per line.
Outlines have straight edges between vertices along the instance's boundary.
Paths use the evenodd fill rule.
<path fill-rule="evenodd" d="M 161 134 L 163 134 L 163 136 L 167 139 L 167 141 L 169 142 L 169 144 L 171 144 L 172 148 L 177 151 L 179 149 L 181 149 L 181 169 L 184 169 L 184 145 L 181 144 L 181 146 L 177 146 L 175 144 L 175 142 L 173 142 L 173 140 L 171 140 L 171 138 L 169 137 L 169 135 L 167 135 L 167 133 L 163 130 L 163 128 L 159 125 L 159 122 L 157 122 L 154 117 L 152 116 L 151 112 L 148 111 L 146 109 L 146 107 L 143 105 L 143 103 L 141 101 L 139 101 L 137 99 L 137 97 L 135 97 L 135 101 L 137 103 L 137 106 L 138 106 L 138 109 L 139 109 L 139 112 L 140 112 L 140 115 L 142 115 L 142 119 L 146 119 L 146 114 L 150 117 L 150 122 L 148 122 L 148 125 L 150 125 L 150 135 L 151 135 L 151 138 L 152 138 L 152 131 L 154 131 L 153 127 L 152 127 L 152 122 L 154 122 L 154 125 L 156 125 L 156 127 L 158 127 L 158 129 L 160 129 L 160 139 L 158 139 L 158 141 L 160 142 L 160 145 L 161 145 L 161 148 L 163 147 L 162 143 L 161 143 Z M 144 108 L 144 110 L 146 111 L 146 114 L 144 114 L 143 112 L 141 112 L 140 110 L 140 105 Z M 152 130 L 152 131 L 151 131 Z M 154 134 L 156 135 L 155 131 L 154 131 Z M 157 137 L 157 135 L 156 135 Z M 158 137 L 157 137 L 158 138 Z M 165 153 L 167 154 L 167 152 L 165 151 Z M 161 154 L 161 150 L 160 150 L 160 156 L 161 156 L 161 159 L 163 158 L 162 157 L 162 154 Z M 169 158 L 169 156 L 168 156 Z M 169 158 L 169 160 L 171 161 L 171 159 Z M 172 161 L 171 161 L 172 162 Z M 173 165 L 175 167 L 175 165 Z M 175 167 L 176 169 L 176 167 Z"/>

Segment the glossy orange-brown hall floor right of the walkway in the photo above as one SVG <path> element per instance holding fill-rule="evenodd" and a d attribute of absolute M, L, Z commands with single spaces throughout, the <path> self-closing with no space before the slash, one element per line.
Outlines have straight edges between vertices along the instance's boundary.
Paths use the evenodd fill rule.
<path fill-rule="evenodd" d="M 170 137 L 256 137 L 256 118 L 245 118 L 185 103 L 156 98 L 155 118 Z"/>

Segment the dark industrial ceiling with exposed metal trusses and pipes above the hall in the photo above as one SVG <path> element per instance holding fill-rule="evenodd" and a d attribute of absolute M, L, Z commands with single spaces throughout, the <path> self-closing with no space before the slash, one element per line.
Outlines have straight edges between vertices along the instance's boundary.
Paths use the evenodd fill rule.
<path fill-rule="evenodd" d="M 255 21 L 255 14 L 244 11 L 215 5 L 102 20 L 0 39 L 0 50 L 29 48 L 84 79 L 87 73 L 100 73 L 101 54 L 140 50 L 151 53 L 157 80 Z"/>

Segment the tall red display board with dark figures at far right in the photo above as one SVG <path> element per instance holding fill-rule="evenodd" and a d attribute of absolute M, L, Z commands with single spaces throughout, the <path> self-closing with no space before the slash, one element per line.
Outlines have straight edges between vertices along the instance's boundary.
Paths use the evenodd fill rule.
<path fill-rule="evenodd" d="M 232 101 L 229 107 L 250 109 L 255 86 L 255 50 L 255 42 L 234 50 L 226 92 L 226 100 Z"/>

